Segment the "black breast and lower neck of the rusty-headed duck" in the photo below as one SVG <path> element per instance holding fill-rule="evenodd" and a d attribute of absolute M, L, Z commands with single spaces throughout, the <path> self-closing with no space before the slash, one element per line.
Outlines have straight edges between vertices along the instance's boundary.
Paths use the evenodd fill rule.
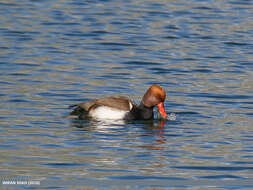
<path fill-rule="evenodd" d="M 138 106 L 134 107 L 129 113 L 130 119 L 147 120 L 153 119 L 153 117 L 153 107 L 146 107 L 142 102 Z"/>

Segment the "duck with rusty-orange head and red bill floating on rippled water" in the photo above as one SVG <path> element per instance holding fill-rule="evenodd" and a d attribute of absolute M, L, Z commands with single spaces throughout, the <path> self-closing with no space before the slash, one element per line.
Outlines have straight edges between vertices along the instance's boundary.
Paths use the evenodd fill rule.
<path fill-rule="evenodd" d="M 150 120 L 154 118 L 154 107 L 157 107 L 162 118 L 167 118 L 164 108 L 165 90 L 157 84 L 151 85 L 139 105 L 125 96 L 109 96 L 71 105 L 74 108 L 71 118 L 98 120 Z"/>

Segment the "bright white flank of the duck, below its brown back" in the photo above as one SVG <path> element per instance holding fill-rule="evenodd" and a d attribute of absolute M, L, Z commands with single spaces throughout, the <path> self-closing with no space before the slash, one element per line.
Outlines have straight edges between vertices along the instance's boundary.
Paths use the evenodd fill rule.
<path fill-rule="evenodd" d="M 89 115 L 96 119 L 123 119 L 128 111 L 122 111 L 107 106 L 99 106 L 98 108 L 89 112 Z"/>

